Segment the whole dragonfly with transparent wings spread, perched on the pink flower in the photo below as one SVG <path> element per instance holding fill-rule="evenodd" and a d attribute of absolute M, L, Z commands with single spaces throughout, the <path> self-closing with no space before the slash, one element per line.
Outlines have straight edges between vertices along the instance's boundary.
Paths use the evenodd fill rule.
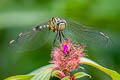
<path fill-rule="evenodd" d="M 9 44 L 16 47 L 22 46 L 24 49 L 26 46 L 28 47 L 26 49 L 29 49 L 30 45 L 30 49 L 40 48 L 50 40 L 49 38 L 52 37 L 51 33 L 55 33 L 54 39 L 52 38 L 53 47 L 55 47 L 56 40 L 62 42 L 62 40 L 68 37 L 76 42 L 85 42 L 97 46 L 98 44 L 102 46 L 111 44 L 111 39 L 103 32 L 59 17 L 52 17 L 44 24 L 37 25 L 19 33 L 17 38 L 11 40 Z"/>

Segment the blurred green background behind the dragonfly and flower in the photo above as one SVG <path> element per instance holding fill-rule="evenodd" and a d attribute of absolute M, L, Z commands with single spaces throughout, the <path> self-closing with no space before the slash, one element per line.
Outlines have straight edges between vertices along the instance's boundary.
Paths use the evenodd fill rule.
<path fill-rule="evenodd" d="M 8 43 L 25 28 L 56 16 L 78 20 L 109 35 L 111 48 L 88 47 L 87 55 L 120 73 L 120 0 L 0 0 L 0 80 L 49 64 L 51 44 L 34 51 L 10 53 Z M 111 80 L 103 72 L 83 66 L 92 76 L 83 80 Z"/>

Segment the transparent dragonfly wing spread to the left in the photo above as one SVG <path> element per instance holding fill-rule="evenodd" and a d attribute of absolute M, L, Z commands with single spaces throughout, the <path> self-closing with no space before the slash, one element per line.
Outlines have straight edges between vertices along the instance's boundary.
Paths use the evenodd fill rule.
<path fill-rule="evenodd" d="M 17 39 L 10 47 L 16 51 L 31 51 L 43 46 L 49 39 L 50 31 L 48 28 L 34 31 L 34 27 L 19 33 Z"/>

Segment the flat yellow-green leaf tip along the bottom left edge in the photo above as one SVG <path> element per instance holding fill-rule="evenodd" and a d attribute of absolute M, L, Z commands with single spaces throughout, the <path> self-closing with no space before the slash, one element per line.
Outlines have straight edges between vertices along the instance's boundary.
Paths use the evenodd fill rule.
<path fill-rule="evenodd" d="M 4 80 L 30 80 L 34 75 L 17 75 L 17 76 L 11 76 Z"/>

